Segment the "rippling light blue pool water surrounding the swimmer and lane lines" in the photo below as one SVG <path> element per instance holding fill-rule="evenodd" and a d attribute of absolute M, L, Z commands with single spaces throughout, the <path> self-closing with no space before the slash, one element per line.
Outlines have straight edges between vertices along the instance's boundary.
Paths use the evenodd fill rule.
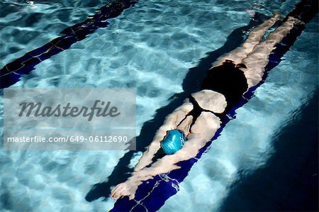
<path fill-rule="evenodd" d="M 0 2 L 1 67 L 57 38 L 61 30 L 84 21 L 106 4 Z M 273 11 L 285 16 L 296 2 L 139 1 L 111 19 L 108 28 L 40 62 L 12 87 L 136 87 L 139 134 L 147 121 L 162 115 L 157 110 L 172 103 L 172 96 L 183 94 L 190 68 L 229 42 L 233 30 L 250 23 L 247 9 L 261 17 Z M 313 165 L 318 152 L 311 151 L 318 150 L 318 104 L 313 103 L 318 102 L 317 92 L 318 16 L 269 72 L 254 98 L 237 110 L 236 119 L 160 211 L 314 210 L 318 203 L 312 197 L 318 190 L 309 188 L 318 183 L 318 165 Z M 85 197 L 94 184 L 108 179 L 124 154 L 0 150 L 0 208 L 110 210 L 112 199 L 86 201 Z M 131 167 L 138 157 L 140 152 L 130 161 Z M 292 166 L 296 170 L 291 164 L 296 164 Z M 312 195 L 303 201 L 307 194 Z"/>

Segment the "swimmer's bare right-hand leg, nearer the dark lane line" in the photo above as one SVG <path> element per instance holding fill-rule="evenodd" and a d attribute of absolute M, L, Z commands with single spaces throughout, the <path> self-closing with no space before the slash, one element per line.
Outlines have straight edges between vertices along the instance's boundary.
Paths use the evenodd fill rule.
<path fill-rule="evenodd" d="M 247 78 L 248 88 L 254 87 L 262 81 L 264 67 L 269 62 L 269 55 L 274 46 L 290 32 L 295 24 L 303 24 L 297 18 L 289 17 L 274 32 L 270 33 L 266 40 L 254 47 L 254 50 L 242 61 L 247 68 L 240 68 Z"/>

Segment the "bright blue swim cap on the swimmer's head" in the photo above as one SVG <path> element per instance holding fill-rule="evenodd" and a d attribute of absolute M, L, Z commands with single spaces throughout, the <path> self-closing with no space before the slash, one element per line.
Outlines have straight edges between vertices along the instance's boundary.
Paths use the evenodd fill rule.
<path fill-rule="evenodd" d="M 169 130 L 164 140 L 162 140 L 161 147 L 165 154 L 173 155 L 183 147 L 185 141 L 186 137 L 181 130 Z"/>

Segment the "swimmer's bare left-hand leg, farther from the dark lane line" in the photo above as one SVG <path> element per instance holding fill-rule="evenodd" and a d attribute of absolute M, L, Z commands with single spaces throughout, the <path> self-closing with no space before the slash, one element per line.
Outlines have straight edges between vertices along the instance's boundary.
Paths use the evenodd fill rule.
<path fill-rule="evenodd" d="M 247 55 L 252 52 L 254 49 L 254 46 L 257 45 L 260 40 L 262 40 L 262 37 L 264 36 L 264 33 L 271 28 L 274 23 L 279 19 L 280 14 L 274 13 L 274 16 L 267 21 L 264 21 L 261 25 L 255 27 L 251 32 L 248 38 L 245 40 L 245 43 L 242 44 L 240 47 L 236 48 L 235 50 L 228 52 L 226 55 L 223 55 L 222 57 L 218 58 L 218 61 L 213 63 L 213 67 L 222 65 L 225 60 L 233 60 L 235 64 L 239 64 L 242 62 L 242 60 L 247 57 Z"/>

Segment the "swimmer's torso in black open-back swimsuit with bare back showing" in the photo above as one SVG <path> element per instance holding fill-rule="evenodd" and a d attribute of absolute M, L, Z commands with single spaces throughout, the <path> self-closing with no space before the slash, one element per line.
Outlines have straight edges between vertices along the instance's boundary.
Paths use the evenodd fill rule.
<path fill-rule="evenodd" d="M 245 65 L 241 67 L 245 68 Z M 201 88 L 203 90 L 189 96 L 193 109 L 181 121 L 183 123 L 188 116 L 191 116 L 189 131 L 185 132 L 186 135 L 191 133 L 191 126 L 203 111 L 211 112 L 223 119 L 225 114 L 240 101 L 248 89 L 248 84 L 244 72 L 235 66 L 233 61 L 226 60 L 222 65 L 208 70 Z"/>

